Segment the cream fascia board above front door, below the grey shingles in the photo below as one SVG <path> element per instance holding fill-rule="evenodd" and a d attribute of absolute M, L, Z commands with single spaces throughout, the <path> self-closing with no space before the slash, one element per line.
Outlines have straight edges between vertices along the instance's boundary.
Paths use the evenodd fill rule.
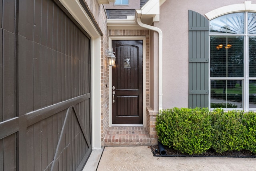
<path fill-rule="evenodd" d="M 132 20 L 117 20 L 117 19 L 108 19 L 107 20 L 107 26 L 108 29 L 113 30 L 113 29 L 137 29 L 137 30 L 142 30 L 141 26 L 139 26 L 134 19 Z"/>

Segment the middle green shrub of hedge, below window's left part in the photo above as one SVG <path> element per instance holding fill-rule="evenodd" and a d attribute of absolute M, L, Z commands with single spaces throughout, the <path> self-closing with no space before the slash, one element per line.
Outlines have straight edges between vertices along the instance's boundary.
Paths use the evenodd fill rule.
<path fill-rule="evenodd" d="M 241 150 L 246 145 L 246 127 L 242 124 L 243 111 L 217 108 L 212 115 L 212 148 L 217 153 Z"/>

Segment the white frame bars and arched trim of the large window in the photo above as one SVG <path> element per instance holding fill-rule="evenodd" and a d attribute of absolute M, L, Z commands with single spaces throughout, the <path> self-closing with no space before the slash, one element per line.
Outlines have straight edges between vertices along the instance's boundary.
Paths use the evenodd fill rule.
<path fill-rule="evenodd" d="M 236 8 L 234 8 L 236 7 Z M 238 8 L 239 7 L 239 8 Z M 247 10 L 246 10 L 247 9 Z M 222 10 L 222 12 L 221 12 Z M 242 80 L 243 82 L 243 97 L 242 97 L 242 105 L 243 108 L 224 108 L 225 110 L 244 110 L 244 111 L 256 111 L 256 108 L 249 108 L 249 80 L 256 80 L 256 78 L 250 78 L 249 79 L 249 59 L 246 58 L 246 56 L 249 56 L 248 52 L 248 46 L 249 46 L 249 36 L 256 36 L 256 34 L 248 34 L 247 33 L 247 18 L 248 18 L 248 12 L 256 12 L 256 4 L 251 4 L 250 1 L 245 1 L 244 4 L 235 4 L 235 5 L 230 5 L 230 6 L 224 6 L 221 8 L 218 8 L 216 10 L 213 10 L 211 12 L 208 12 L 205 14 L 205 16 L 212 20 L 214 18 L 217 18 L 222 15 L 226 15 L 229 13 L 234 13 L 234 12 L 245 12 L 245 19 L 244 19 L 244 27 L 245 27 L 245 33 L 244 34 L 235 34 L 236 36 L 244 36 L 244 77 L 234 77 L 234 78 L 215 78 L 215 77 L 210 77 L 210 60 L 209 60 L 209 90 L 211 89 L 211 80 Z M 216 16 L 214 16 L 216 15 Z M 209 32 L 209 58 L 210 58 L 210 36 L 220 36 L 221 34 L 216 34 L 216 33 L 210 33 Z M 224 35 L 223 35 L 224 36 Z M 225 36 L 234 36 L 234 34 L 225 34 Z M 214 108 L 210 107 L 211 103 L 211 96 L 209 94 L 209 109 L 213 110 Z"/>

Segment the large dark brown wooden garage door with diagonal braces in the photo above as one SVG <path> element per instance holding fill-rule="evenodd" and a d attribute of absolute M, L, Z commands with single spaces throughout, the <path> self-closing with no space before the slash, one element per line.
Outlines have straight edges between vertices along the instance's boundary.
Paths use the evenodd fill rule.
<path fill-rule="evenodd" d="M 90 37 L 52 0 L 3 2 L 0 170 L 81 169 L 92 151 Z"/>

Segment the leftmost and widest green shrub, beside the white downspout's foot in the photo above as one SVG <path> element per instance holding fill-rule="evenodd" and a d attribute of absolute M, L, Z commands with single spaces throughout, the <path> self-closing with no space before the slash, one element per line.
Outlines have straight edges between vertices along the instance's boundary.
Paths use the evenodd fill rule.
<path fill-rule="evenodd" d="M 188 154 L 200 154 L 211 143 L 211 120 L 207 108 L 177 108 L 159 112 L 156 119 L 158 141 Z"/>

